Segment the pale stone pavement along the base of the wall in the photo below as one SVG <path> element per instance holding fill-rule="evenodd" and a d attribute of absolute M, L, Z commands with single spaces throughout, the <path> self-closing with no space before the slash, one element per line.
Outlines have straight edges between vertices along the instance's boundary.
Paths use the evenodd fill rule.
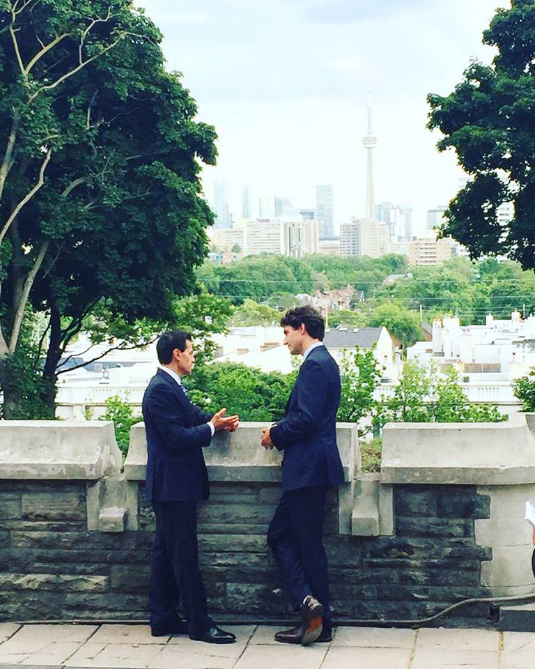
<path fill-rule="evenodd" d="M 533 669 L 535 633 L 339 627 L 329 644 L 274 642 L 274 627 L 229 627 L 231 645 L 152 638 L 144 625 L 0 624 L 8 666 L 130 669 Z"/>

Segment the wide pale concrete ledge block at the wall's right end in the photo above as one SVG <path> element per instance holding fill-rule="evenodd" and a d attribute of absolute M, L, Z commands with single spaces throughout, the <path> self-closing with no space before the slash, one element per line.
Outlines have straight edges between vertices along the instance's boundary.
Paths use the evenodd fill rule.
<path fill-rule="evenodd" d="M 535 438 L 524 415 L 506 423 L 389 423 L 382 481 L 513 485 L 535 482 Z"/>

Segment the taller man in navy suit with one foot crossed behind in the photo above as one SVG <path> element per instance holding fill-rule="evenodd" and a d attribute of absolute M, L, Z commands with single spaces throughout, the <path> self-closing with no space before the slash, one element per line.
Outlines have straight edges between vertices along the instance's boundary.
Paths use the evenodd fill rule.
<path fill-rule="evenodd" d="M 323 345 L 325 323 L 312 307 L 282 318 L 284 344 L 303 362 L 283 420 L 262 431 L 262 445 L 284 452 L 282 497 L 267 532 L 301 625 L 280 631 L 281 643 L 309 645 L 332 639 L 327 556 L 323 547 L 325 496 L 343 482 L 336 445 L 339 367 Z"/>

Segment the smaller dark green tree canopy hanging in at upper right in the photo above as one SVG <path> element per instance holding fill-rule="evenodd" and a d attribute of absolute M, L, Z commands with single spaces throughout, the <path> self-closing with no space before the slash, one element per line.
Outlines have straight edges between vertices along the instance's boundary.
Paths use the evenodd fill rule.
<path fill-rule="evenodd" d="M 497 47 L 491 66 L 473 62 L 447 97 L 429 95 L 429 128 L 453 147 L 470 180 L 450 202 L 441 234 L 481 254 L 535 267 L 535 3 L 500 9 L 483 43 Z M 514 204 L 511 222 L 497 208 Z"/>

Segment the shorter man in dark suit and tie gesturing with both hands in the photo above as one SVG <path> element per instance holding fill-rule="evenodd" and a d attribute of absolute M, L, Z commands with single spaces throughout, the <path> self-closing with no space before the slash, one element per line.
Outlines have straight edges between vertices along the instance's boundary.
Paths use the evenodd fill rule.
<path fill-rule="evenodd" d="M 156 516 L 150 562 L 150 627 L 153 636 L 189 634 L 208 643 L 233 643 L 235 636 L 208 615 L 197 554 L 197 502 L 208 499 L 203 448 L 219 430 L 234 431 L 239 417 L 226 409 L 205 413 L 189 401 L 182 377 L 195 361 L 192 337 L 166 332 L 157 342 L 162 367 L 143 398 L 147 438 L 146 494 Z M 186 621 L 176 608 L 182 599 Z"/>

